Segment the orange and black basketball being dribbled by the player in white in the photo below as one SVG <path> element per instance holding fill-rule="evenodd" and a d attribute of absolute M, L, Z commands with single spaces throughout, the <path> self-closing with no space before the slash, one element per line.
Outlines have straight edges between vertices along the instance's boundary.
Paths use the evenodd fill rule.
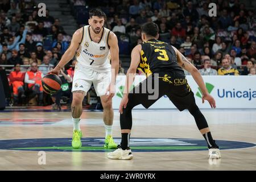
<path fill-rule="evenodd" d="M 53 94 L 61 88 L 60 77 L 55 74 L 48 74 L 42 78 L 42 86 L 44 92 Z"/>

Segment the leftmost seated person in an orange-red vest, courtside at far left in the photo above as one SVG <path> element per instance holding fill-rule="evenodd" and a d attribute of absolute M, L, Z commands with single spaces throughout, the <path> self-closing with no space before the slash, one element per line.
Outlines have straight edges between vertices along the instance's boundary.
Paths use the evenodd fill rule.
<path fill-rule="evenodd" d="M 14 105 L 18 104 L 19 97 L 25 98 L 24 95 L 24 72 L 20 71 L 20 64 L 15 64 L 14 71 L 9 75 L 10 84 L 13 85 Z"/>

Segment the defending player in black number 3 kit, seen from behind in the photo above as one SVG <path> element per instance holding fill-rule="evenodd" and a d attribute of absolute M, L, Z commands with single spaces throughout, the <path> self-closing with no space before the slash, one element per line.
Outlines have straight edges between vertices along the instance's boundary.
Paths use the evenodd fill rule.
<path fill-rule="evenodd" d="M 212 108 L 215 108 L 215 101 L 208 93 L 203 78 L 199 71 L 193 66 L 175 47 L 170 44 L 158 41 L 158 26 L 155 23 L 146 23 L 142 26 L 143 43 L 134 47 L 131 52 L 131 64 L 127 71 L 125 94 L 119 106 L 122 141 L 117 150 L 110 152 L 110 159 L 132 159 L 133 155 L 129 147 L 130 132 L 132 125 L 131 110 L 134 106 L 142 104 L 148 108 L 160 97 L 166 95 L 180 111 L 188 109 L 196 121 L 201 134 L 207 141 L 209 158 L 218 159 L 221 157 L 220 150 L 210 134 L 210 130 L 204 115 L 195 102 L 194 94 L 185 78 L 183 68 L 191 73 L 194 80 L 203 92 L 203 103 L 207 100 Z M 137 67 L 139 66 L 147 79 L 142 81 L 130 93 L 128 88 L 134 81 Z M 154 79 L 158 79 L 158 85 L 154 85 Z M 158 89 L 158 97 L 150 99 L 152 93 L 148 90 L 147 84 L 153 84 Z M 158 87 L 158 88 L 157 88 Z M 136 90 L 145 92 L 135 93 Z"/>

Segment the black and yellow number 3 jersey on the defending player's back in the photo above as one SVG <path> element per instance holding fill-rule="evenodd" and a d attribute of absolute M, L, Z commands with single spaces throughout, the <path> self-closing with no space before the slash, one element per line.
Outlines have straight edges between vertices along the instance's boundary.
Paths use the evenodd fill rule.
<path fill-rule="evenodd" d="M 178 71 L 184 74 L 183 69 L 177 63 L 177 56 L 170 44 L 155 39 L 141 44 L 141 61 L 138 69 L 146 74 L 170 73 Z"/>

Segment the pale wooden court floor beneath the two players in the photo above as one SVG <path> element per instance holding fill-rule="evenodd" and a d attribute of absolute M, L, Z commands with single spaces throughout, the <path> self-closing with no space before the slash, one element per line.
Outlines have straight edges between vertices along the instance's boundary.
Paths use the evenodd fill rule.
<path fill-rule="evenodd" d="M 0 113 L 0 170 L 256 170 L 256 147 L 243 146 L 243 143 L 255 146 L 256 110 L 203 110 L 202 113 L 207 118 L 213 138 L 225 140 L 225 146 L 233 147 L 221 150 L 220 160 L 208 160 L 207 150 L 133 152 L 134 159 L 127 161 L 110 160 L 106 158 L 107 151 L 46 150 L 46 164 L 39 164 L 39 151 L 13 150 L 13 148 L 31 149 L 44 138 L 47 138 L 44 144 L 49 146 L 52 140 L 61 142 L 60 138 L 66 138 L 64 145 L 67 147 L 69 142 L 70 147 L 73 130 L 70 113 L 2 112 Z M 83 146 L 89 144 L 87 138 L 96 140 L 104 138 L 102 112 L 84 112 L 81 130 Z M 113 136 L 118 141 L 121 137 L 118 111 L 114 111 Z M 141 142 L 141 145 L 143 139 L 147 138 L 145 141 L 151 142 L 153 148 L 158 145 L 158 140 L 163 144 L 185 143 L 183 147 L 186 147 L 186 144 L 196 146 L 193 142 L 197 140 L 188 142 L 189 139 L 203 140 L 188 111 L 177 110 L 133 111 L 131 138 L 137 138 L 134 143 Z M 158 140 L 151 141 L 152 138 Z M 188 140 L 184 142 L 183 139 Z M 14 145 L 16 141 L 18 146 Z M 51 147 L 54 145 L 56 146 L 56 143 Z M 133 151 L 132 144 L 131 148 Z M 44 151 L 44 148 L 40 151 Z"/>

